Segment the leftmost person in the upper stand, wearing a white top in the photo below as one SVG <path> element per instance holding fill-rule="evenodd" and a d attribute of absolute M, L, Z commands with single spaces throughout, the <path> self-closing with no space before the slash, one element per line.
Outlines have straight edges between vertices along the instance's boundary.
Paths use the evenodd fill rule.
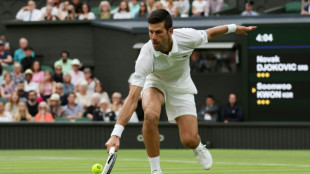
<path fill-rule="evenodd" d="M 41 11 L 36 9 L 36 3 L 33 0 L 29 0 L 27 6 L 22 7 L 17 15 L 17 20 L 22 21 L 40 21 Z"/>

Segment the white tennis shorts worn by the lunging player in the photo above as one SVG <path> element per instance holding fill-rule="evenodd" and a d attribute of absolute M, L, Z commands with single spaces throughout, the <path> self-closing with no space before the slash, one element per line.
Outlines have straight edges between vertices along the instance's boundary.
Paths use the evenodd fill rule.
<path fill-rule="evenodd" d="M 161 83 L 150 81 L 145 83 L 141 94 L 148 88 L 156 88 L 164 94 L 166 113 L 170 123 L 176 123 L 175 119 L 182 115 L 197 117 L 194 94 L 177 93 L 172 89 L 166 89 Z"/>

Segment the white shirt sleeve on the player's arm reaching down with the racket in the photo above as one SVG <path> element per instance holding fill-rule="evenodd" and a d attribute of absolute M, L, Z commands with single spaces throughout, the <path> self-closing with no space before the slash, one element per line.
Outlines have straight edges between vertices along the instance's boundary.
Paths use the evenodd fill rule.
<path fill-rule="evenodd" d="M 136 61 L 135 72 L 132 75 L 131 84 L 143 87 L 146 76 L 153 72 L 153 54 L 151 48 L 148 46 L 150 42 L 146 43 L 139 54 Z"/>

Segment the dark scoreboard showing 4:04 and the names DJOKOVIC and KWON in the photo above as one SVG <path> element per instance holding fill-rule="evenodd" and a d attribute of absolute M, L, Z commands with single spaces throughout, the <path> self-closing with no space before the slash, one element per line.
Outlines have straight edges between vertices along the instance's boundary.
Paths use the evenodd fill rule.
<path fill-rule="evenodd" d="M 257 27 L 248 36 L 248 119 L 310 121 L 310 23 Z"/>

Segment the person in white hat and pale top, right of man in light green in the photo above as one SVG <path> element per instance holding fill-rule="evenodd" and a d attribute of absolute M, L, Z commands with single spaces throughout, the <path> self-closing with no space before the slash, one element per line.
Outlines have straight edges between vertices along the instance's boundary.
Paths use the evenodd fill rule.
<path fill-rule="evenodd" d="M 71 65 L 72 70 L 69 71 L 69 74 L 71 75 L 71 83 L 76 86 L 81 81 L 85 80 L 85 76 L 84 73 L 79 70 L 82 66 L 79 59 L 73 59 Z"/>

